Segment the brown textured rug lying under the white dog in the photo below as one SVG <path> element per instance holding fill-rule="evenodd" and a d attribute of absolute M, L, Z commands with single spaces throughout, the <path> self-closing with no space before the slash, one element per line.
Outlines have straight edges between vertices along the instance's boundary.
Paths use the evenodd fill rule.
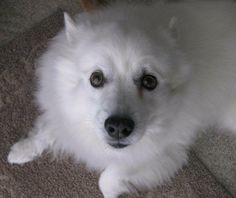
<path fill-rule="evenodd" d="M 0 48 L 0 198 L 101 198 L 98 175 L 71 159 L 52 160 L 49 154 L 23 166 L 9 165 L 10 146 L 32 127 L 35 59 L 63 26 L 58 11 L 30 31 Z M 136 198 L 232 197 L 190 152 L 189 164 L 172 180 Z"/>

